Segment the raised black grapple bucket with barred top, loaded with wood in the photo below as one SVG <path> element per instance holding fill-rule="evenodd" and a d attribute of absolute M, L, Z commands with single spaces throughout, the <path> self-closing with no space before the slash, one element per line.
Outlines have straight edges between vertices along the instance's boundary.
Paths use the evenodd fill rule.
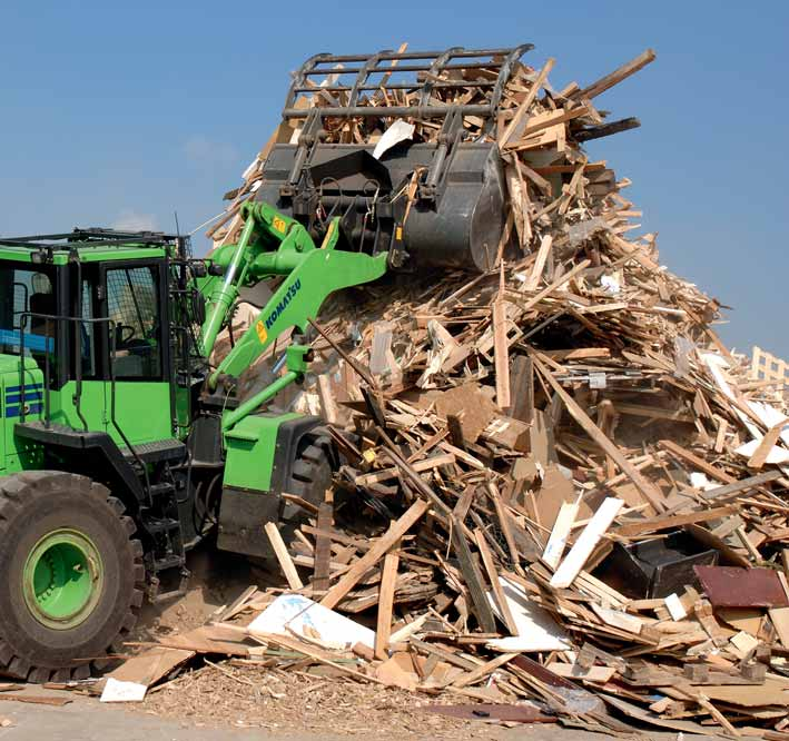
<path fill-rule="evenodd" d="M 531 48 L 313 57 L 256 198 L 318 239 L 342 216 L 348 246 L 387 251 L 392 267 L 490 269 L 506 201 L 496 115 Z"/>

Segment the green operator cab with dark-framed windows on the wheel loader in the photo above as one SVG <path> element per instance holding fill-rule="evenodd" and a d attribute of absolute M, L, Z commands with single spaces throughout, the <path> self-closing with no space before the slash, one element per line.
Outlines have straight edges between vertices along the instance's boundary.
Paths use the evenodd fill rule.
<path fill-rule="evenodd" d="M 0 260 L 0 354 L 17 358 L 4 383 L 20 385 L 23 355 L 24 386 L 36 391 L 36 404 L 9 405 L 7 422 L 46 416 L 121 446 L 172 436 L 168 265 L 159 251 Z M 151 403 L 145 415 L 140 398 Z"/>

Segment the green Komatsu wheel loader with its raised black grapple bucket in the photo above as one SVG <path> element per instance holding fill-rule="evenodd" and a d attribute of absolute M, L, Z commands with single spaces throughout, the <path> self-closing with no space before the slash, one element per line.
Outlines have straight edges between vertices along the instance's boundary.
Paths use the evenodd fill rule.
<path fill-rule="evenodd" d="M 298 520 L 282 495 L 323 500 L 338 465 L 327 431 L 274 406 L 308 368 L 309 318 L 333 292 L 389 269 L 492 266 L 502 162 L 495 144 L 465 139 L 463 117 L 495 125 L 526 49 L 312 58 L 283 113 L 300 137 L 272 149 L 240 236 L 208 258 L 147 231 L 0 238 L 0 673 L 88 676 L 144 599 L 185 591 L 189 549 L 214 533 L 219 549 L 269 559 L 264 525 L 280 523 L 287 540 Z M 437 121 L 438 144 L 379 157 L 325 144 L 329 113 L 381 117 L 357 98 L 393 60 L 428 72 L 418 89 L 484 56 L 497 73 L 480 82 L 493 86 L 490 105 L 431 106 L 425 93 L 396 109 Z M 356 70 L 347 107 L 294 103 L 338 61 Z M 211 367 L 240 292 L 263 281 L 270 299 Z M 241 394 L 239 376 L 290 330 L 269 383 Z"/>

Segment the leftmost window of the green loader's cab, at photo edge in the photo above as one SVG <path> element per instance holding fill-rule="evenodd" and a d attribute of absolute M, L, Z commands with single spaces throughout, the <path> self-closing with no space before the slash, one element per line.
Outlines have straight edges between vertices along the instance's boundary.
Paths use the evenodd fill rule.
<path fill-rule="evenodd" d="M 21 323 L 24 324 L 26 355 L 39 356 L 53 349 L 55 322 L 41 315 L 57 314 L 50 266 L 0 261 L 0 353 L 17 355 L 21 347 Z"/>

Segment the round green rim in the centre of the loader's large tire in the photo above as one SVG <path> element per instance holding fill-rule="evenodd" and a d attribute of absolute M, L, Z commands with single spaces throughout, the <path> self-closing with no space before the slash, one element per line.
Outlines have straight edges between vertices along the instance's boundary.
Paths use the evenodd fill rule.
<path fill-rule="evenodd" d="M 103 563 L 93 542 L 76 530 L 45 535 L 24 562 L 24 602 L 33 618 L 56 630 L 85 622 L 101 596 Z"/>

